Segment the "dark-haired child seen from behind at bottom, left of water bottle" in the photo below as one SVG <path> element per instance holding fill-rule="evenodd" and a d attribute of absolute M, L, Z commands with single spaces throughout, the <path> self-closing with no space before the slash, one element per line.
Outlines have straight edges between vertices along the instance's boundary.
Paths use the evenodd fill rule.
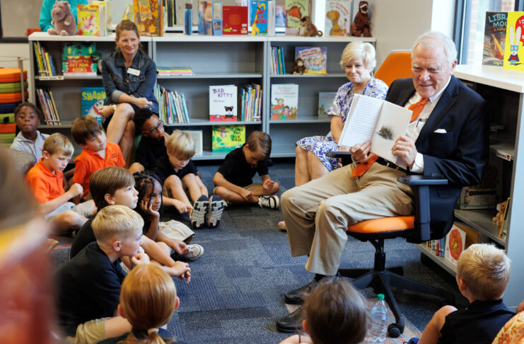
<path fill-rule="evenodd" d="M 366 337 L 369 306 L 345 280 L 322 280 L 305 299 L 302 311 L 302 326 L 309 336 L 294 335 L 280 344 L 357 344 Z"/>

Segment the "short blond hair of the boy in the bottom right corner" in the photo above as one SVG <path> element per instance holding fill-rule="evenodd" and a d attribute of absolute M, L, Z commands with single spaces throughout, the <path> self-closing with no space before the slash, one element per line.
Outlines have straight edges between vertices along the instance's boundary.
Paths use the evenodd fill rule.
<path fill-rule="evenodd" d="M 486 243 L 475 243 L 458 258 L 457 278 L 480 301 L 502 297 L 508 285 L 511 260 L 504 251 Z"/>

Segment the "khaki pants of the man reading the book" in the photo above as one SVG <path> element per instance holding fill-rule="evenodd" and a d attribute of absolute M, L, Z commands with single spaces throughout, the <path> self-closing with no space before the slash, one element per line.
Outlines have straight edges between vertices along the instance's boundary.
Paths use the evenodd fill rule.
<path fill-rule="evenodd" d="M 348 224 L 413 212 L 411 188 L 397 182 L 404 172 L 375 163 L 351 178 L 354 166 L 337 168 L 281 197 L 291 256 L 309 255 L 305 269 L 310 273 L 337 273 Z"/>

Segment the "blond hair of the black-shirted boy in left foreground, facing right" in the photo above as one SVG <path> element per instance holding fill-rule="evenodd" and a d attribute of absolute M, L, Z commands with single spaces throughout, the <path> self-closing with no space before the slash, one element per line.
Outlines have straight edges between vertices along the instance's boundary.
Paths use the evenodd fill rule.
<path fill-rule="evenodd" d="M 108 239 L 122 241 L 136 231 L 142 231 L 144 220 L 125 205 L 110 205 L 96 214 L 91 226 L 98 243 Z"/>

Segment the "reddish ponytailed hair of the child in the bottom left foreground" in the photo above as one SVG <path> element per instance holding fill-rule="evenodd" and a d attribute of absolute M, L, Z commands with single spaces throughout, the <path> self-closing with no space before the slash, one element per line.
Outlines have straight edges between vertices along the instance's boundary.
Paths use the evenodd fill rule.
<path fill-rule="evenodd" d="M 139 265 L 122 282 L 120 306 L 133 328 L 147 335 L 146 343 L 165 343 L 158 329 L 168 323 L 175 308 L 177 289 L 173 279 L 158 265 Z M 122 343 L 138 343 L 134 333 Z M 144 343 L 140 340 L 139 343 Z"/>

